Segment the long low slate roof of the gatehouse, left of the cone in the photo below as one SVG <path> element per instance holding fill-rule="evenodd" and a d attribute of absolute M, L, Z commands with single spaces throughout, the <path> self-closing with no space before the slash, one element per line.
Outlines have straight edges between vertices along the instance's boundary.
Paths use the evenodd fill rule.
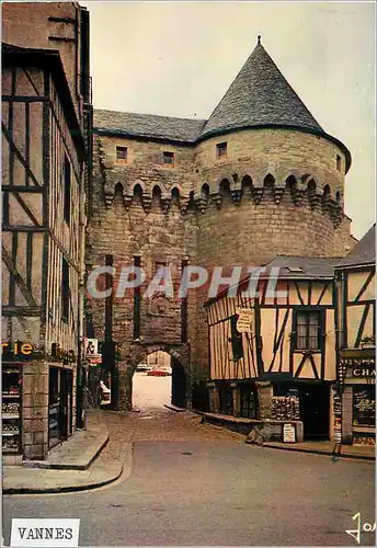
<path fill-rule="evenodd" d="M 205 119 L 175 118 L 152 114 L 94 110 L 93 125 L 99 133 L 122 134 L 129 137 L 196 142 Z"/>

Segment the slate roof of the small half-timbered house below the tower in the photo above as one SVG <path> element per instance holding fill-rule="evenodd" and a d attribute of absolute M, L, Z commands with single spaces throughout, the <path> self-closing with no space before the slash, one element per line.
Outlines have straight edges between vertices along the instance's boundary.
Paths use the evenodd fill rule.
<path fill-rule="evenodd" d="M 284 279 L 323 279 L 332 278 L 340 259 L 312 256 L 276 255 L 265 264 L 269 276 L 272 267 L 279 267 L 279 278 Z M 263 275 L 261 275 L 263 277 Z"/>

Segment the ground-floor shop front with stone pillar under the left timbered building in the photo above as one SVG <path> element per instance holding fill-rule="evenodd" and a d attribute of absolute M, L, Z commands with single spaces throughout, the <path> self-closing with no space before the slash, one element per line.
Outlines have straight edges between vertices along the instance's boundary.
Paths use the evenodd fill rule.
<path fill-rule="evenodd" d="M 5 356 L 8 357 L 8 356 Z M 73 433 L 75 369 L 44 361 L 2 363 L 2 452 L 5 464 L 44 459 Z"/>

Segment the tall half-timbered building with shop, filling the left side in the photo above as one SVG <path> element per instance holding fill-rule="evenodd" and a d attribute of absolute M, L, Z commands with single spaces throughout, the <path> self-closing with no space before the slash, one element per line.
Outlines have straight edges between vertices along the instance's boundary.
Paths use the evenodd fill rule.
<path fill-rule="evenodd" d="M 8 2 L 2 23 L 2 447 L 38 459 L 77 419 L 89 16 Z"/>

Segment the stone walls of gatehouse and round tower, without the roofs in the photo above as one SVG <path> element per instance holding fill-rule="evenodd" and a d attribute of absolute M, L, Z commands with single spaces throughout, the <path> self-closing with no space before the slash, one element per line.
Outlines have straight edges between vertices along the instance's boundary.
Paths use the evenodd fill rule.
<path fill-rule="evenodd" d="M 217 158 L 216 145 L 227 155 Z M 127 161 L 116 147 L 127 148 Z M 174 165 L 163 164 L 163 151 Z M 340 160 L 339 160 L 339 158 Z M 340 165 L 339 165 L 340 162 Z M 180 277 L 182 260 L 204 266 L 260 265 L 276 254 L 344 256 L 353 247 L 343 210 L 345 158 L 333 142 L 293 130 L 259 129 L 210 138 L 196 147 L 158 140 L 95 135 L 93 215 L 87 233 L 87 264 L 156 263 Z M 175 285 L 176 288 L 176 285 Z M 209 376 L 207 289 L 188 298 L 190 370 Z M 141 300 L 140 342 L 179 344 L 181 302 Z M 89 300 L 94 336 L 104 338 L 104 300 Z M 113 340 L 127 368 L 134 342 L 133 292 L 113 300 Z M 126 370 L 126 369 L 124 369 Z"/>

